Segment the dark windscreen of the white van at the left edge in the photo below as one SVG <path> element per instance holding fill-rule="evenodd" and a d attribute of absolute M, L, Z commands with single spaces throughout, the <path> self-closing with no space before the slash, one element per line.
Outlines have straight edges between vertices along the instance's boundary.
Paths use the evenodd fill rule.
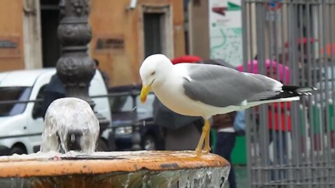
<path fill-rule="evenodd" d="M 26 101 L 29 99 L 31 87 L 0 87 L 0 101 Z M 0 104 L 0 116 L 18 115 L 24 112 L 27 103 Z"/>

